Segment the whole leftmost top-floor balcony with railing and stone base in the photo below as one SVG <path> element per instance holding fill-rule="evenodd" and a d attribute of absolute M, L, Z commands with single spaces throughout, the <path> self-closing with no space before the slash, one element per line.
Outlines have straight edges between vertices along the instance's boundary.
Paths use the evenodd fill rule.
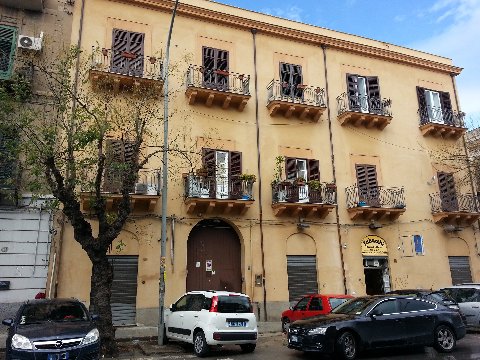
<path fill-rule="evenodd" d="M 93 88 L 113 89 L 159 95 L 163 87 L 162 60 L 153 56 L 138 56 L 129 52 L 93 48 L 90 81 Z"/>

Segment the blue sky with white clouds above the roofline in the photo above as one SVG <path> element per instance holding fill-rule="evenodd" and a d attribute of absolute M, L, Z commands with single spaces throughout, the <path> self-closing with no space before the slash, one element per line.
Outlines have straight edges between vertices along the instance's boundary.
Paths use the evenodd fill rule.
<path fill-rule="evenodd" d="M 216 0 L 448 57 L 468 127 L 480 126 L 480 0 Z"/>

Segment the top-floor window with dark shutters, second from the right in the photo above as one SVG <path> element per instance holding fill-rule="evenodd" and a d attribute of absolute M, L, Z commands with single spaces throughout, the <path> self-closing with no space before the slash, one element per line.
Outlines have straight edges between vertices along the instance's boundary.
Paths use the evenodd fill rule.
<path fill-rule="evenodd" d="M 350 111 L 382 112 L 378 77 L 347 74 L 347 92 Z"/>

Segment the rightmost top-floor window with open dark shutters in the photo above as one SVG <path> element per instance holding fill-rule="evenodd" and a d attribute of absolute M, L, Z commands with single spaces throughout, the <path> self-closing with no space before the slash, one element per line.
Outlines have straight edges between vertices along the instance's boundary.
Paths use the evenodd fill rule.
<path fill-rule="evenodd" d="M 422 125 L 431 122 L 454 124 L 449 93 L 417 86 L 417 97 Z"/>

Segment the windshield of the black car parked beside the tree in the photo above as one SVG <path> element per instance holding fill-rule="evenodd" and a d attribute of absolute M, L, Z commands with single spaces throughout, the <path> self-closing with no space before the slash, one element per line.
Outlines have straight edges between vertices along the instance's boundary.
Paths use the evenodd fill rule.
<path fill-rule="evenodd" d="M 20 325 L 45 321 L 86 321 L 87 314 L 80 304 L 74 302 L 27 304 L 20 315 Z"/>

